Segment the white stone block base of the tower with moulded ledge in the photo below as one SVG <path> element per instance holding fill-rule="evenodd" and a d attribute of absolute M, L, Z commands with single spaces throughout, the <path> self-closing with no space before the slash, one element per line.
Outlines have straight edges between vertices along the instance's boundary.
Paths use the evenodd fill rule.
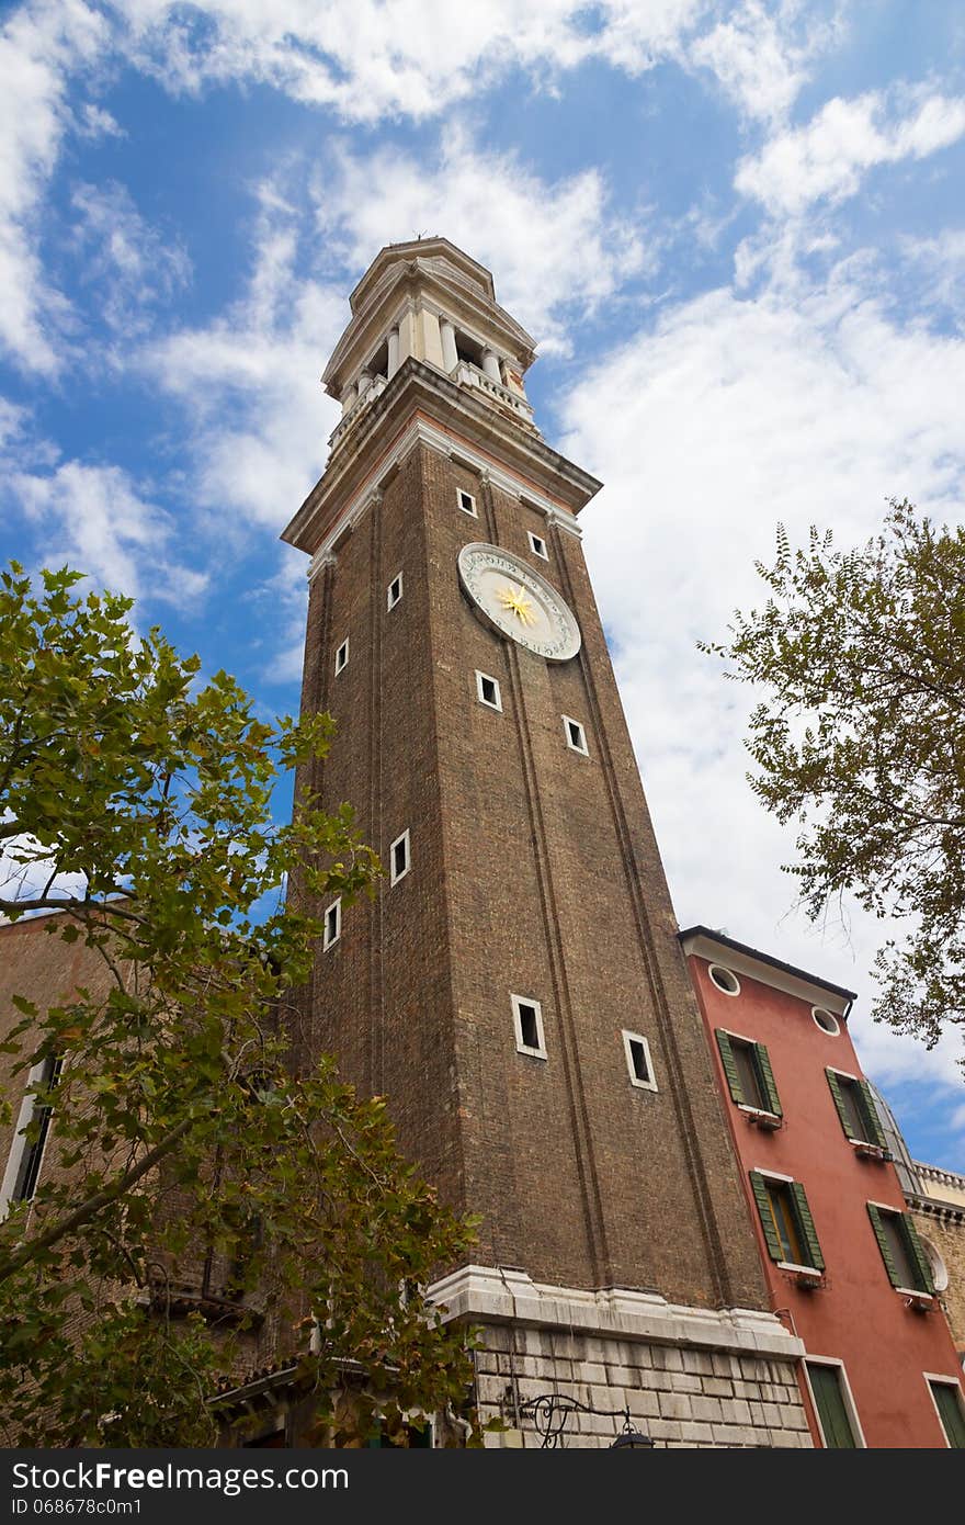
<path fill-rule="evenodd" d="M 810 1447 L 797 1385 L 803 1345 L 773 1313 L 689 1308 L 649 1292 L 581 1292 L 466 1266 L 431 1289 L 482 1328 L 480 1420 L 489 1446 L 611 1446 L 625 1415 L 660 1447 Z M 541 1397 L 547 1403 L 534 1405 Z"/>

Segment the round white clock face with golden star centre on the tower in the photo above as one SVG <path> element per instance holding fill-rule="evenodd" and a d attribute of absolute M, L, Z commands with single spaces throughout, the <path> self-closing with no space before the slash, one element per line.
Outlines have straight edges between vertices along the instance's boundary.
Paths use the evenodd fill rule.
<path fill-rule="evenodd" d="M 569 662 L 579 651 L 579 625 L 556 589 L 511 551 L 463 546 L 459 580 L 486 624 L 527 651 L 547 662 Z"/>

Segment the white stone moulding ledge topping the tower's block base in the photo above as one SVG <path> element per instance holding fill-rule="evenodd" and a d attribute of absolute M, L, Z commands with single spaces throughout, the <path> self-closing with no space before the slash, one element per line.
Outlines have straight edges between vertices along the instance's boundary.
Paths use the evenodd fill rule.
<path fill-rule="evenodd" d="M 465 1266 L 428 1289 L 447 1319 L 553 1327 L 616 1339 L 727 1350 L 799 1360 L 803 1340 L 759 1308 L 689 1308 L 656 1292 L 605 1287 L 581 1292 L 534 1283 L 523 1270 Z"/>

